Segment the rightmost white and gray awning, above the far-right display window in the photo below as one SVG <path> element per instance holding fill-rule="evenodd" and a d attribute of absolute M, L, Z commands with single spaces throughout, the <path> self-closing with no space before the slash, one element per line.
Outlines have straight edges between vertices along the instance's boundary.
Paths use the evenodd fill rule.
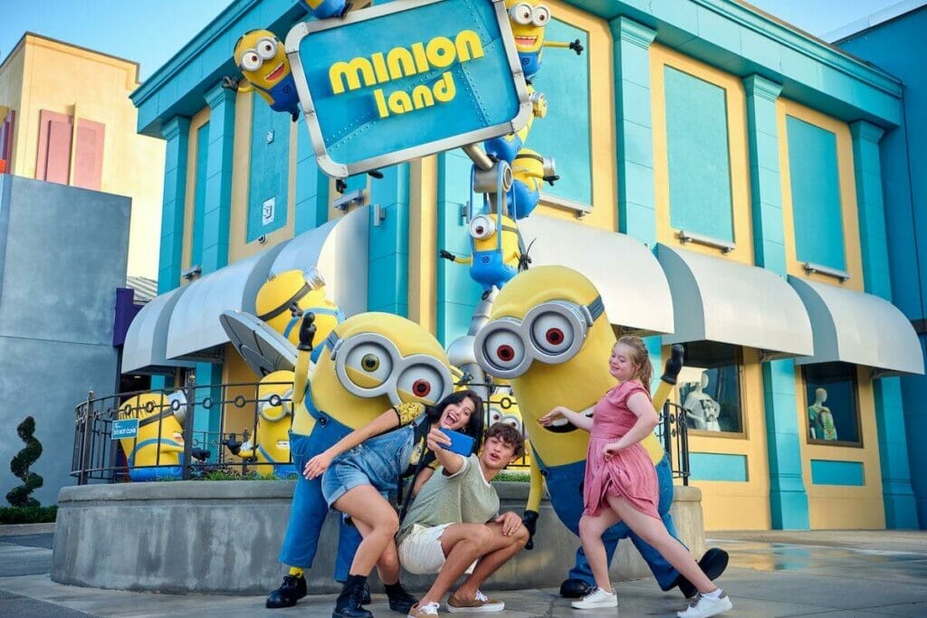
<path fill-rule="evenodd" d="M 796 364 L 843 361 L 884 374 L 923 373 L 921 344 L 905 314 L 880 296 L 789 276 L 814 329 L 814 354 Z"/>

